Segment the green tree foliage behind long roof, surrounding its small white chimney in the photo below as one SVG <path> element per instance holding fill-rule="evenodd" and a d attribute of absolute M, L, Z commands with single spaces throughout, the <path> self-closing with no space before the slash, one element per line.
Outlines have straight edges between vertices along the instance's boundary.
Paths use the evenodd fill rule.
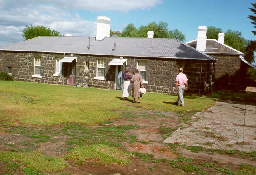
<path fill-rule="evenodd" d="M 148 25 L 141 25 L 138 29 L 131 23 L 124 28 L 120 37 L 148 37 L 148 31 L 154 31 L 154 38 L 176 38 L 180 41 L 185 40 L 185 35 L 178 29 L 168 31 L 168 24 L 160 21 L 151 22 Z"/>

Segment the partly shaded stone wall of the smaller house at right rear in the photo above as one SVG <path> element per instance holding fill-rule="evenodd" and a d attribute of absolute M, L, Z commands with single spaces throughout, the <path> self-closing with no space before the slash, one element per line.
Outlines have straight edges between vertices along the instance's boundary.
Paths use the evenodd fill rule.
<path fill-rule="evenodd" d="M 239 55 L 210 55 L 218 59 L 214 80 L 215 89 L 239 89 L 241 85 L 241 60 Z"/>

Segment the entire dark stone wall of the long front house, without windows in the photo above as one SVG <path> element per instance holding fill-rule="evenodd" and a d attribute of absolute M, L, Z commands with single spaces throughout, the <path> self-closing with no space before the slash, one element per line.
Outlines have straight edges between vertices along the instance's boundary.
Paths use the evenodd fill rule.
<path fill-rule="evenodd" d="M 42 78 L 32 77 L 34 75 L 34 56 L 41 57 L 41 76 Z M 70 55 L 66 55 L 70 56 Z M 115 89 L 116 66 L 108 65 L 113 57 L 94 56 L 94 55 L 73 55 L 78 57 L 76 62 L 76 85 L 82 87 L 96 87 Z M 13 77 L 18 81 L 30 81 L 38 83 L 66 84 L 66 79 L 54 76 L 55 59 L 64 57 L 63 54 L 52 53 L 9 53 L 0 52 L 0 71 L 7 70 L 7 66 L 15 69 Z M 105 79 L 95 79 L 97 73 L 97 59 L 105 59 Z M 188 59 L 154 59 L 154 58 L 134 58 L 127 57 L 127 67 L 131 72 L 137 68 L 138 61 L 147 62 L 147 82 L 144 87 L 148 92 L 159 92 L 172 94 L 175 87 L 175 78 L 178 68 L 183 67 L 184 73 L 188 77 L 188 92 L 197 93 L 208 92 L 212 89 L 215 63 L 210 61 L 198 61 Z M 67 63 L 68 64 L 68 63 Z M 87 67 L 86 65 L 89 65 Z M 200 87 L 200 71 L 201 87 Z M 88 68 L 88 69 L 87 69 Z M 13 70 L 14 70 L 13 69 Z M 64 77 L 68 75 L 67 66 L 64 66 Z"/>

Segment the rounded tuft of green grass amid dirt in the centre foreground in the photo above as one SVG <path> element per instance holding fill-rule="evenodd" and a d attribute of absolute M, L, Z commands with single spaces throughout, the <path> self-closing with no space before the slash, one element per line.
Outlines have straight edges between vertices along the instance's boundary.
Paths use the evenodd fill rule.
<path fill-rule="evenodd" d="M 77 165 L 82 165 L 85 161 L 96 161 L 101 164 L 120 165 L 131 163 L 132 154 L 120 151 L 116 147 L 103 144 L 92 144 L 90 146 L 75 147 L 70 153 L 64 156 L 65 159 L 74 161 Z"/>

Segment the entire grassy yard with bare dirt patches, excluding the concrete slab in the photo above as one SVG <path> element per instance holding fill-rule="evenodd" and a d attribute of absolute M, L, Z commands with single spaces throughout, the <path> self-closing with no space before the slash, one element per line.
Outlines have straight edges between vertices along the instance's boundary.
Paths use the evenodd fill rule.
<path fill-rule="evenodd" d="M 117 90 L 0 81 L 0 174 L 255 174 L 256 151 L 163 143 L 217 98 L 248 97 L 185 96 L 179 107 L 176 95 L 146 93 L 133 104 Z"/>

